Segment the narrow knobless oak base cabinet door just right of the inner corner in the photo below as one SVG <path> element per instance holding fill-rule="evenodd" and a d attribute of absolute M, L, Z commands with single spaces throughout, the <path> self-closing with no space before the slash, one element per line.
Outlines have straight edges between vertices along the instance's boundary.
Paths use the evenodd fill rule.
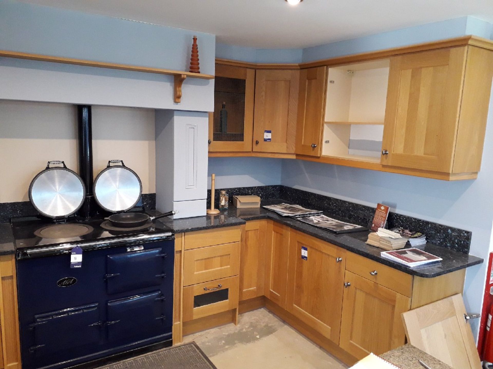
<path fill-rule="evenodd" d="M 286 308 L 289 227 L 270 220 L 267 225 L 264 295 Z"/>

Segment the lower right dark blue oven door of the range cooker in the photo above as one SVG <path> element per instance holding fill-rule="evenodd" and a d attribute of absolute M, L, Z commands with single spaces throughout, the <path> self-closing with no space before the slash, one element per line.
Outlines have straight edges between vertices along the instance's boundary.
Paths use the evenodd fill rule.
<path fill-rule="evenodd" d="M 170 332 L 172 313 L 161 291 L 107 303 L 107 337 L 118 345 Z M 173 311 L 173 310 L 172 310 Z"/>

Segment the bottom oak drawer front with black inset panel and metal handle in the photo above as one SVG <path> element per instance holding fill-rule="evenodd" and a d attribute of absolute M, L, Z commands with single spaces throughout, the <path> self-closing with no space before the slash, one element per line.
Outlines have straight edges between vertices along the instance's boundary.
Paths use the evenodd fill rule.
<path fill-rule="evenodd" d="M 183 288 L 183 321 L 202 318 L 238 307 L 238 276 Z"/>

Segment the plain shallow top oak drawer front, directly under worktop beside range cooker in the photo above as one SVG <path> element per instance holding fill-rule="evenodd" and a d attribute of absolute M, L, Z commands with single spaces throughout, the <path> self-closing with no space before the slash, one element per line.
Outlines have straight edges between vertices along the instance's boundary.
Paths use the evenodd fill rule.
<path fill-rule="evenodd" d="M 189 232 L 183 235 L 185 250 L 212 245 L 239 242 L 241 239 L 240 226 L 207 229 L 205 231 Z"/>

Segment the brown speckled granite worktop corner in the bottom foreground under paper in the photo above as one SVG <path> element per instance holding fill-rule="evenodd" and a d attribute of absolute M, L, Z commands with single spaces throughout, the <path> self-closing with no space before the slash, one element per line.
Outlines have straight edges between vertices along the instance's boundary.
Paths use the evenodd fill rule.
<path fill-rule="evenodd" d="M 421 351 L 410 344 L 390 350 L 383 355 L 382 359 L 397 366 L 399 369 L 423 369 L 418 360 L 421 360 L 431 369 L 452 369 L 447 364 L 435 359 L 433 356 Z"/>

